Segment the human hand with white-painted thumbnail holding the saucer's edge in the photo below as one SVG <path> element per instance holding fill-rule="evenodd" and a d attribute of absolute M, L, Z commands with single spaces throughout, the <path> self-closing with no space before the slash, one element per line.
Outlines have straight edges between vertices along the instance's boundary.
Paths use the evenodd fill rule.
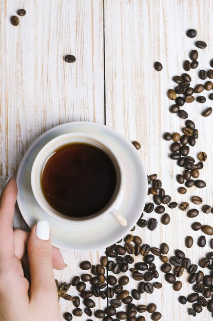
<path fill-rule="evenodd" d="M 38 222 L 30 233 L 13 231 L 16 197 L 11 178 L 0 197 L 0 321 L 61 321 L 53 267 L 61 270 L 66 264 L 51 245 L 48 222 Z"/>

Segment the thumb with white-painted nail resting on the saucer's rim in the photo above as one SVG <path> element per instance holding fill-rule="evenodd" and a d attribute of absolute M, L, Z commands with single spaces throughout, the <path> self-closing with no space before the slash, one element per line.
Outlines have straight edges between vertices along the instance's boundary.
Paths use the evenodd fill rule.
<path fill-rule="evenodd" d="M 39 298 L 48 295 L 51 298 L 55 296 L 57 299 L 50 227 L 46 220 L 40 220 L 32 228 L 28 241 L 28 259 L 31 279 L 30 296 Z"/>

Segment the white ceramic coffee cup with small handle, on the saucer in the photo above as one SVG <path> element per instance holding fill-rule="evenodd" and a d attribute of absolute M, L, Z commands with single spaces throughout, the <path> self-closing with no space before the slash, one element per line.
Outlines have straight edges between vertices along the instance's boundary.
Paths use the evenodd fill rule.
<path fill-rule="evenodd" d="M 55 210 L 47 202 L 41 186 L 43 171 L 49 158 L 56 152 L 56 150 L 62 149 L 63 146 L 73 143 L 89 144 L 102 149 L 112 160 L 117 173 L 117 185 L 111 200 L 101 211 L 94 213 L 87 218 L 69 218 Z M 94 220 L 100 219 L 102 216 L 112 215 L 122 226 L 127 225 L 127 220 L 116 208 L 117 204 L 121 202 L 123 190 L 123 169 L 121 159 L 118 158 L 116 151 L 112 150 L 102 139 L 91 134 L 80 132 L 67 133 L 57 136 L 48 142 L 35 157 L 31 170 L 31 187 L 34 197 L 41 208 L 49 215 L 66 222 L 67 224 L 81 224 L 85 219 L 92 223 Z"/>

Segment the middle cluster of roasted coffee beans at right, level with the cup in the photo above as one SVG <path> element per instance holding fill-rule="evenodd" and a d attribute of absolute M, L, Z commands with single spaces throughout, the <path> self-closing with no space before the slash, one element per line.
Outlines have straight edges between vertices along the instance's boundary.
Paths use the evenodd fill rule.
<path fill-rule="evenodd" d="M 186 187 L 196 186 L 197 188 L 204 188 L 206 186 L 204 180 L 198 178 L 200 176 L 200 170 L 203 168 L 204 162 L 207 159 L 207 155 L 205 152 L 199 152 L 199 162 L 195 164 L 195 158 L 189 156 L 190 148 L 188 145 L 192 147 L 195 146 L 196 139 L 198 139 L 198 130 L 196 129 L 195 123 L 191 120 L 187 120 L 185 126 L 186 127 L 182 128 L 182 135 L 177 132 L 173 134 L 167 132 L 164 134 L 166 141 L 173 141 L 170 145 L 171 154 L 169 157 L 177 160 L 177 165 L 184 168 L 183 173 L 177 175 L 177 182 L 179 184 L 184 184 L 185 182 L 185 187 L 178 188 L 180 194 L 187 192 Z"/>

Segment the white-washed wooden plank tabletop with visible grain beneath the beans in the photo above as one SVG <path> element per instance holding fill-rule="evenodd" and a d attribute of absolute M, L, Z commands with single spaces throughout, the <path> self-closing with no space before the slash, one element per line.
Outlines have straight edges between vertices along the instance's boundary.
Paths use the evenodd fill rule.
<path fill-rule="evenodd" d="M 20 25 L 14 27 L 10 17 L 20 8 L 25 8 L 27 14 L 20 17 Z M 158 173 L 172 200 L 190 200 L 191 195 L 198 194 L 204 204 L 212 205 L 213 122 L 212 115 L 201 116 L 202 110 L 212 105 L 211 101 L 203 104 L 205 106 L 196 102 L 184 106 L 200 135 L 190 154 L 197 157 L 199 151 L 205 151 L 208 155 L 201 171 L 207 188 L 191 188 L 185 195 L 177 193 L 176 175 L 182 170 L 168 157 L 170 144 L 162 139 L 165 131 L 180 132 L 184 127 L 183 119 L 168 111 L 172 102 L 166 93 L 175 85 L 172 76 L 183 72 L 183 61 L 188 59 L 189 51 L 195 49 L 195 39 L 185 34 L 188 28 L 197 29 L 196 39 L 207 42 L 207 49 L 199 49 L 199 67 L 189 72 L 192 86 L 203 83 L 198 78 L 199 70 L 210 68 L 209 61 L 213 58 L 211 0 L 5 0 L 0 2 L 0 14 L 2 184 L 6 176 L 15 177 L 27 148 L 46 130 L 67 122 L 90 121 L 112 127 L 131 141 L 139 141 L 142 145 L 139 153 L 147 173 Z M 66 54 L 73 54 L 76 62 L 66 63 Z M 154 70 L 155 61 L 163 64 L 161 72 Z M 206 92 L 205 95 L 207 97 Z M 183 249 L 192 262 L 198 264 L 199 258 L 210 251 L 210 237 L 206 237 L 204 248 L 198 248 L 197 239 L 202 233 L 192 231 L 190 225 L 195 220 L 212 224 L 212 214 L 201 212 L 199 219 L 191 219 L 179 209 L 168 213 L 170 225 L 162 225 L 159 214 L 146 214 L 147 219 L 158 219 L 157 229 L 151 232 L 137 227 L 134 234 L 141 235 L 143 243 L 151 246 L 168 243 L 169 256 L 174 249 Z M 26 228 L 18 210 L 14 225 Z M 186 235 L 194 237 L 191 249 L 185 247 Z M 82 273 L 79 268 L 82 260 L 89 259 L 96 264 L 104 250 L 62 253 L 69 267 L 55 271 L 55 277 L 70 282 L 72 276 Z M 160 271 L 160 260 L 156 258 L 154 262 Z M 143 294 L 140 304 L 156 303 L 165 321 L 193 319 L 187 314 L 191 304 L 181 306 L 178 302 L 179 295 L 192 292 L 192 286 L 186 282 L 186 272 L 181 279 L 183 288 L 176 293 L 160 273 L 158 281 L 163 288 L 155 289 L 152 295 Z M 135 287 L 130 278 L 128 288 Z M 74 288 L 69 293 L 77 295 Z M 106 300 L 95 299 L 95 302 L 99 308 L 107 304 Z M 72 304 L 63 299 L 60 306 L 62 314 L 73 309 Z M 147 312 L 144 315 L 150 319 Z M 197 320 L 210 318 L 206 308 L 197 315 Z M 81 320 L 86 319 L 84 314 Z"/>

